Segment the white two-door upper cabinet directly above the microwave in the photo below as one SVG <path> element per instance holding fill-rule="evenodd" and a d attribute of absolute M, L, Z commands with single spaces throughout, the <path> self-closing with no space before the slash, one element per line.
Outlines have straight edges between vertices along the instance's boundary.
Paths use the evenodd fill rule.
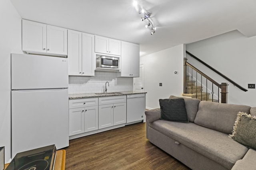
<path fill-rule="evenodd" d="M 95 35 L 95 53 L 121 55 L 121 41 Z"/>

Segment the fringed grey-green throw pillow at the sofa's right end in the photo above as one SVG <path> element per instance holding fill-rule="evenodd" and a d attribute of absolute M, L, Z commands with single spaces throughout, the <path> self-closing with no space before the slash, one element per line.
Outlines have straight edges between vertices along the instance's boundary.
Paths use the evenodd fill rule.
<path fill-rule="evenodd" d="M 239 112 L 233 133 L 229 136 L 247 147 L 256 149 L 256 116 Z"/>

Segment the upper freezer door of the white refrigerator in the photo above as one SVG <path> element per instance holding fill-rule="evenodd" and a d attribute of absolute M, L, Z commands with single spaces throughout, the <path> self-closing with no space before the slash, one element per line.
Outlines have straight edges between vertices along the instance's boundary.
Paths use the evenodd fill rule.
<path fill-rule="evenodd" d="M 68 59 L 12 54 L 12 89 L 68 88 Z"/>

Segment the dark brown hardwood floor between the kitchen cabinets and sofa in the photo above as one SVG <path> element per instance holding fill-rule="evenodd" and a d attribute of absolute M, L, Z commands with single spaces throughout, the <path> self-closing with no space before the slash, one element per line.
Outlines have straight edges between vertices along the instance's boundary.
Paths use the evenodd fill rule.
<path fill-rule="evenodd" d="M 189 170 L 146 139 L 136 123 L 69 141 L 66 170 Z"/>

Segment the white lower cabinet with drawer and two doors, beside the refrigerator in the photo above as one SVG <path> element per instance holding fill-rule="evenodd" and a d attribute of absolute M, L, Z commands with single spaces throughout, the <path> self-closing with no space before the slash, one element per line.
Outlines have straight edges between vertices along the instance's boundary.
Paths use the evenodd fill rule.
<path fill-rule="evenodd" d="M 98 98 L 69 101 L 69 136 L 98 129 Z"/>

